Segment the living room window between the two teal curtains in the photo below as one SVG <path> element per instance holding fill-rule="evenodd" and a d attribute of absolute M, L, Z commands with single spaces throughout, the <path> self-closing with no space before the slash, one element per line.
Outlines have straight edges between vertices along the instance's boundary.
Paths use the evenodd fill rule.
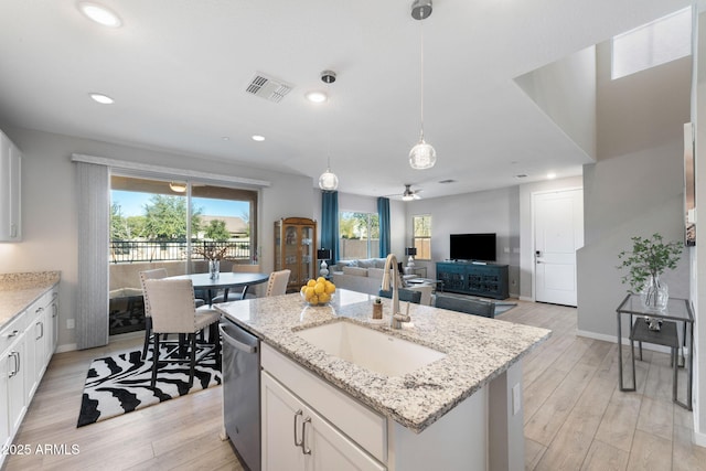
<path fill-rule="evenodd" d="M 339 213 L 340 259 L 379 257 L 379 216 L 377 213 Z"/>

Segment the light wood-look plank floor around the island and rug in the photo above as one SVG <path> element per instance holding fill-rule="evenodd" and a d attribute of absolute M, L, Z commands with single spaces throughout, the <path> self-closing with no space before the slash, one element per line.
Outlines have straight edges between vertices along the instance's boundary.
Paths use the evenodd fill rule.
<path fill-rule="evenodd" d="M 527 470 L 706 470 L 692 413 L 672 403 L 668 355 L 645 350 L 638 390 L 621 393 L 618 346 L 576 336 L 575 309 L 520 301 L 500 319 L 554 332 L 524 361 Z M 140 344 L 135 338 L 54 355 L 14 443 L 33 451 L 77 445 L 79 452 L 11 456 L 3 469 L 242 470 L 220 438 L 221 387 L 76 428 L 90 361 Z"/>

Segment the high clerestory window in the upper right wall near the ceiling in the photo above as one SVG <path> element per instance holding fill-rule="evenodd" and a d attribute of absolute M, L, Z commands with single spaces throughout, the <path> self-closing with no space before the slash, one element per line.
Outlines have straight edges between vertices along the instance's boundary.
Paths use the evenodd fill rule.
<path fill-rule="evenodd" d="M 692 9 L 685 8 L 612 40 L 613 79 L 692 53 Z"/>

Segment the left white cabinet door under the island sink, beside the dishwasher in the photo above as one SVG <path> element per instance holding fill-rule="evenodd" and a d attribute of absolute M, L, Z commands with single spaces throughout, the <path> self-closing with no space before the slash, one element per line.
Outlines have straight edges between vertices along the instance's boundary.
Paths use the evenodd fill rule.
<path fill-rule="evenodd" d="M 263 470 L 303 470 L 303 404 L 265 372 L 261 399 Z"/>

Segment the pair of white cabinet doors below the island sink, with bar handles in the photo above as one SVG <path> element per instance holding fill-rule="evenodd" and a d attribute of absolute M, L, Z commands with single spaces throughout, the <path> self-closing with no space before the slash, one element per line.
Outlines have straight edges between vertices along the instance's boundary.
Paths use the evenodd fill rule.
<path fill-rule="evenodd" d="M 263 469 L 385 470 L 267 372 L 261 386 Z"/>

